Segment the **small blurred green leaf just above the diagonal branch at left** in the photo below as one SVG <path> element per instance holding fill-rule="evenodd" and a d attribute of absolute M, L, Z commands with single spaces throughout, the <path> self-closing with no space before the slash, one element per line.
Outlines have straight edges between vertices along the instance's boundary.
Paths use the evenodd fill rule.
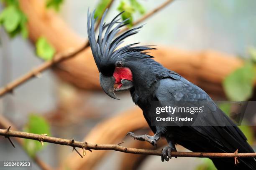
<path fill-rule="evenodd" d="M 46 40 L 45 37 L 40 37 L 36 41 L 36 54 L 44 60 L 51 60 L 54 56 L 55 49 Z"/>

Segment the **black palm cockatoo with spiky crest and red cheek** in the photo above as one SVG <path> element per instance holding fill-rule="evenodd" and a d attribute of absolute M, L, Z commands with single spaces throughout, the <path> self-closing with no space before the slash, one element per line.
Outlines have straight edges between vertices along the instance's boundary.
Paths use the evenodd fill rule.
<path fill-rule="evenodd" d="M 104 23 L 106 11 L 100 21 L 99 35 L 95 37 L 94 12 L 89 13 L 87 33 L 92 54 L 100 72 L 100 85 L 105 93 L 114 99 L 115 92 L 129 90 L 133 102 L 143 110 L 143 115 L 151 130 L 150 135 L 135 135 L 128 133 L 137 140 L 147 141 L 155 145 L 159 138 L 167 140 L 168 146 L 162 150 L 161 160 L 168 161 L 171 152 L 176 151 L 175 144 L 184 146 L 193 152 L 253 153 L 241 130 L 218 108 L 205 91 L 186 80 L 174 71 L 168 70 L 148 55 L 151 46 L 136 46 L 138 43 L 118 48 L 126 37 L 134 35 L 142 26 L 130 29 L 117 35 L 125 25 L 118 14 L 110 23 Z M 114 88 L 115 86 L 115 88 Z M 201 115 L 200 122 L 214 120 L 219 126 L 161 126 L 151 124 L 149 107 L 152 101 L 168 101 L 174 105 L 175 101 L 207 101 Z M 132 121 L 132 120 L 131 120 Z M 239 158 L 235 165 L 233 158 L 212 158 L 218 169 L 256 169 L 254 158 Z"/>

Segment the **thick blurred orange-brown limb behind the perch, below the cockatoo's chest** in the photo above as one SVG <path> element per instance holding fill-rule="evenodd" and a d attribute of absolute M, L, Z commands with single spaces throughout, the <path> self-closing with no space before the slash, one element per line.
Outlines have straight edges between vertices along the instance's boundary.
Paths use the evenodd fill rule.
<path fill-rule="evenodd" d="M 87 133 L 82 141 L 88 141 L 90 143 L 115 144 L 122 141 L 127 132 L 134 132 L 136 130 L 145 128 L 148 129 L 149 127 L 143 117 L 141 109 L 139 107 L 133 107 L 123 112 L 119 112 L 113 117 L 101 121 L 95 125 L 89 133 Z M 61 161 L 60 169 L 95 169 L 95 167 L 105 159 L 109 152 L 110 150 L 95 150 L 93 153 L 88 152 L 87 156 L 82 160 L 76 155 L 76 153 L 70 153 L 63 161 Z"/>

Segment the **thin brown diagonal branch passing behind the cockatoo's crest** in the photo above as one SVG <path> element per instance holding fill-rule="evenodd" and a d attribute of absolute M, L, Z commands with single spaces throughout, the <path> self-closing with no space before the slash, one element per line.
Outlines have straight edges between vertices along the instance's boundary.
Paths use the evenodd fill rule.
<path fill-rule="evenodd" d="M 161 10 L 163 7 L 165 7 L 170 2 L 173 2 L 173 1 L 174 0 L 167 0 L 162 5 L 160 5 L 159 7 L 156 7 L 154 10 L 152 10 L 148 14 L 144 15 L 141 19 L 139 19 L 138 21 L 134 22 L 133 25 L 137 25 L 137 24 L 141 23 L 143 20 L 146 20 L 147 18 L 152 16 L 154 13 L 156 13 L 159 10 Z M 113 3 L 110 2 L 110 4 L 108 5 L 108 8 L 112 4 Z M 98 22 L 100 22 L 100 20 L 98 20 Z M 98 25 L 99 24 L 97 23 L 97 26 Z M 96 26 L 96 28 L 97 28 L 97 26 Z M 123 31 L 125 31 L 127 29 L 128 28 L 124 28 L 123 30 L 120 30 L 120 32 L 123 32 Z M 53 60 L 49 60 L 49 61 L 44 62 L 43 64 L 41 64 L 38 67 L 36 67 L 35 69 L 29 71 L 25 75 L 23 75 L 21 77 L 18 77 L 16 80 L 13 80 L 13 82 L 10 82 L 7 85 L 5 85 L 4 87 L 0 88 L 0 97 L 5 95 L 8 92 L 12 93 L 13 90 L 16 87 L 18 87 L 19 85 L 22 85 L 23 83 L 27 82 L 28 80 L 32 79 L 33 77 L 38 77 L 38 75 L 40 75 L 41 72 L 47 70 L 51 66 L 56 65 L 57 63 L 59 63 L 61 61 L 64 61 L 64 60 L 67 60 L 69 58 L 74 57 L 75 55 L 77 55 L 80 52 L 82 52 L 83 50 L 85 50 L 88 46 L 89 46 L 89 41 L 87 40 L 87 42 L 82 47 L 80 47 L 77 50 L 72 50 L 72 51 L 69 51 L 69 52 L 66 52 L 66 53 L 57 53 L 54 56 Z"/>

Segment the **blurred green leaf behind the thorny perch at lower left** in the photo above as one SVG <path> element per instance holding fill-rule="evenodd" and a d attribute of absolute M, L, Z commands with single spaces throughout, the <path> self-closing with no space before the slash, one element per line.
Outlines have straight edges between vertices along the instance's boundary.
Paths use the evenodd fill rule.
<path fill-rule="evenodd" d="M 35 134 L 47 134 L 50 135 L 50 126 L 44 120 L 43 117 L 39 115 L 30 115 L 28 119 L 27 125 L 24 127 L 24 131 L 28 133 L 35 133 Z M 44 146 L 47 143 L 44 143 Z M 25 139 L 23 144 L 24 149 L 31 157 L 34 157 L 36 153 L 43 148 L 41 143 L 36 140 Z"/>

